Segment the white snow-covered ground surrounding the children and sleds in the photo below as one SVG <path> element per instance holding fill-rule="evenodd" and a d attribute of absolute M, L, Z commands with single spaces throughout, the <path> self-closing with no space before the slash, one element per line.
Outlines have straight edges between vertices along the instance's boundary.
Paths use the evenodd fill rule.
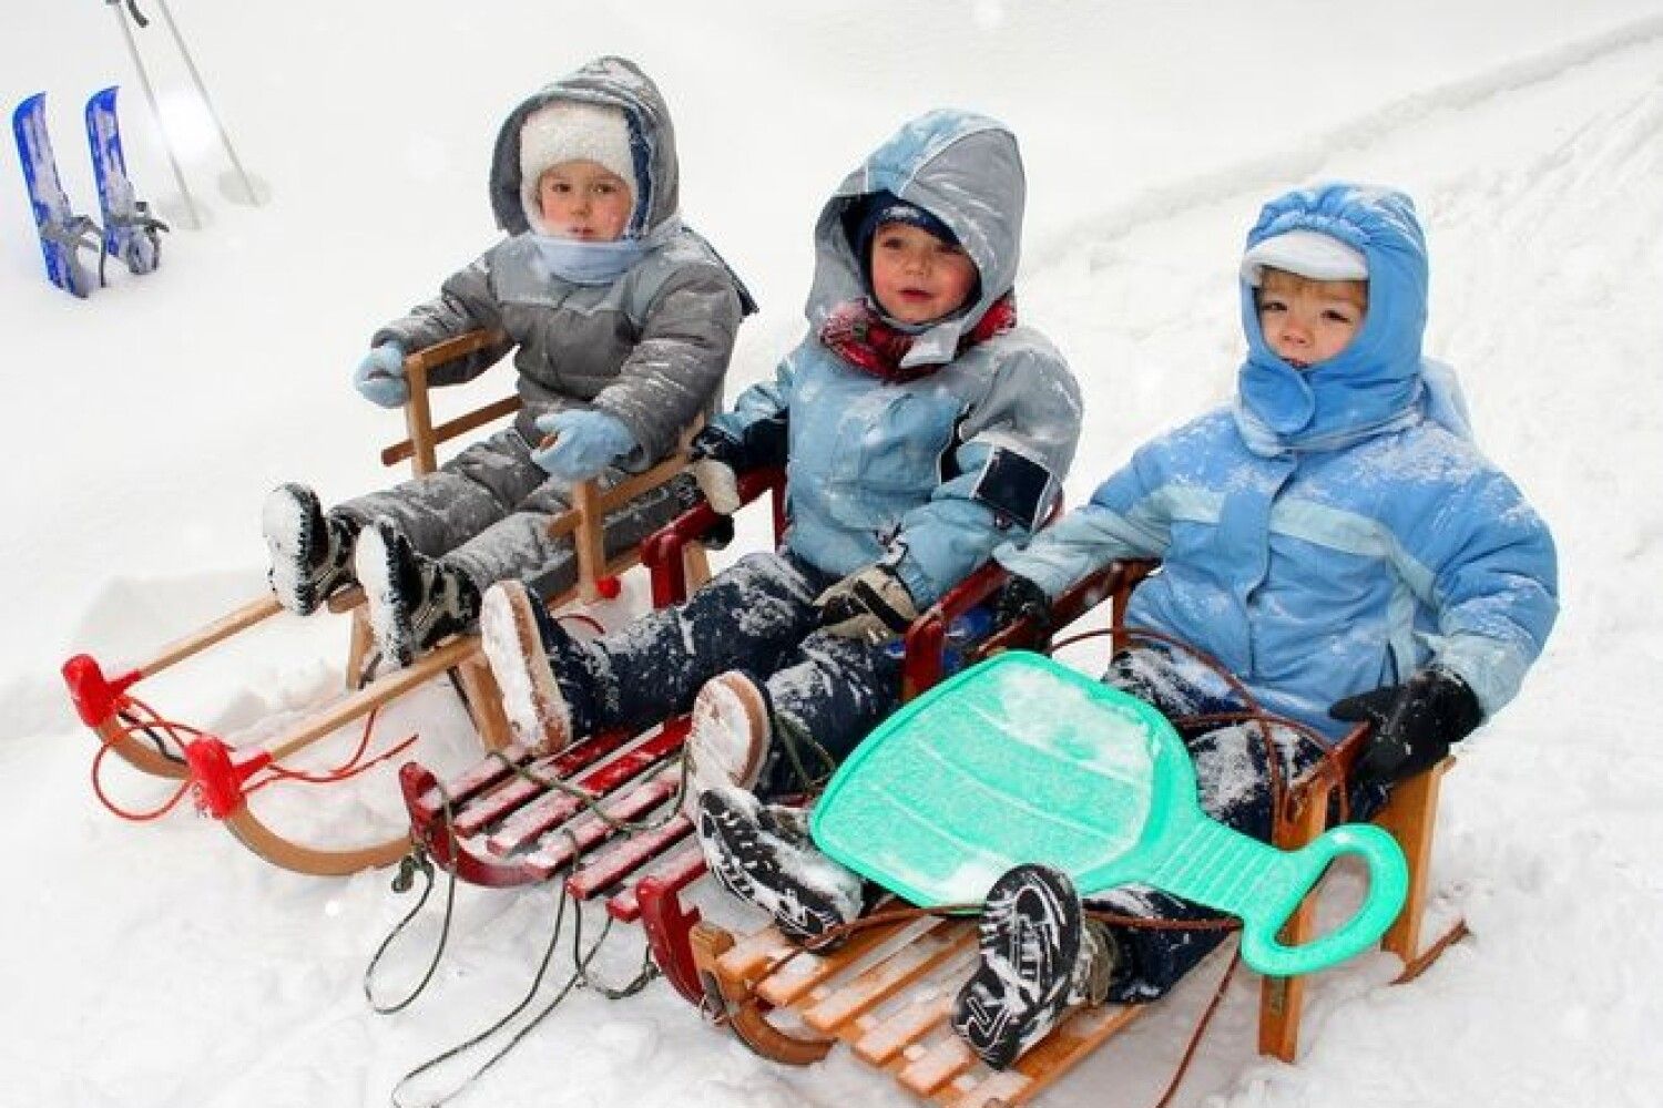
<path fill-rule="evenodd" d="M 1445 786 L 1437 909 L 1463 914 L 1472 939 L 1405 988 L 1384 985 L 1395 963 L 1380 955 L 1315 978 L 1297 1066 L 1254 1058 L 1244 977 L 1179 1103 L 1656 1103 L 1663 774 L 1645 689 L 1663 663 L 1663 3 L 171 8 L 266 204 L 233 203 L 218 179 L 228 164 L 160 18 L 140 48 L 178 113 L 205 229 L 171 234 L 148 277 L 113 266 L 78 302 L 42 279 L 20 176 L 0 169 L 0 1105 L 381 1105 L 530 982 L 554 897 L 464 889 L 436 983 L 374 1015 L 359 977 L 407 907 L 386 874 L 281 872 L 185 812 L 116 821 L 88 789 L 93 744 L 55 669 L 75 650 L 138 658 L 258 595 L 256 515 L 276 482 L 334 498 L 382 480 L 374 453 L 396 417 L 351 392 L 351 365 L 376 324 L 492 239 L 501 115 L 604 51 L 665 90 L 685 213 L 763 302 L 733 385 L 797 337 L 810 223 L 855 159 L 928 106 L 1008 120 L 1029 171 L 1023 312 L 1088 395 L 1071 500 L 1227 394 L 1236 254 L 1266 196 L 1327 176 L 1412 191 L 1434 257 L 1429 349 L 1457 365 L 1482 444 L 1553 525 L 1563 616 Z M 86 209 L 80 108 L 121 83 L 140 193 L 180 223 L 115 12 L 8 0 L 0 91 L 48 91 Z M 301 706 L 339 676 L 338 628 L 313 623 L 226 648 L 153 698 L 221 733 Z M 426 757 L 466 759 L 444 689 L 386 721 L 411 729 Z M 121 767 L 108 782 L 135 806 L 163 796 Z M 344 801 L 269 796 L 273 817 L 319 836 L 396 829 L 384 776 Z M 394 950 L 387 993 L 436 925 L 427 914 Z M 602 973 L 622 978 L 632 944 L 610 944 Z M 1046 1103 L 1151 1103 L 1214 973 Z M 846 1058 L 765 1063 L 659 983 L 575 995 L 457 1103 L 905 1101 Z"/>

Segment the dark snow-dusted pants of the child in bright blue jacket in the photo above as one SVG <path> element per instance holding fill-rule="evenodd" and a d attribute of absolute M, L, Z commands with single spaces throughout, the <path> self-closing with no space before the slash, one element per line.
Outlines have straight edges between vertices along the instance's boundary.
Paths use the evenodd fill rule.
<path fill-rule="evenodd" d="M 1234 694 L 1207 688 L 1212 681 L 1207 681 L 1194 663 L 1179 659 L 1162 648 L 1136 648 L 1116 655 L 1104 683 L 1152 703 L 1174 721 L 1194 762 L 1201 807 L 1207 816 L 1261 842 L 1271 841 L 1271 776 L 1264 729 L 1252 723 L 1184 724 L 1189 716 L 1242 711 L 1246 706 Z M 1322 757 L 1322 751 L 1310 739 L 1292 729 L 1272 726 L 1271 733 L 1284 782 Z M 1349 801 L 1350 817 L 1367 819 L 1384 804 L 1385 791 L 1352 789 Z M 1212 909 L 1147 885 L 1113 889 L 1094 897 L 1089 907 L 1151 920 L 1222 919 Z M 1227 934 L 1211 929 L 1151 930 L 1116 925 L 1114 937 L 1119 940 L 1124 965 L 1116 972 L 1109 1000 L 1136 1003 L 1164 995 Z"/>

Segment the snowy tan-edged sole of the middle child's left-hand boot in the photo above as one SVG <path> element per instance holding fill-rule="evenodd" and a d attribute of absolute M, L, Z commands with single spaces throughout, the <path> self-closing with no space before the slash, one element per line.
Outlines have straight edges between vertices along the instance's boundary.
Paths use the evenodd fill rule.
<path fill-rule="evenodd" d="M 570 744 L 572 728 L 565 698 L 542 650 L 537 616 L 529 606 L 534 603 L 524 588 L 486 590 L 479 640 L 514 739 L 542 754 L 555 754 Z"/>

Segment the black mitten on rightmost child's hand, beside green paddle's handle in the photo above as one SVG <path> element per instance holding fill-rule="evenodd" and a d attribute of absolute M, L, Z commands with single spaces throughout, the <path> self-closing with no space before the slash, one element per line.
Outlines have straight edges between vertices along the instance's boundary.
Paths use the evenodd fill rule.
<path fill-rule="evenodd" d="M 1379 784 L 1394 784 L 1435 766 L 1450 746 L 1483 723 L 1472 688 L 1437 666 L 1417 671 L 1404 684 L 1335 701 L 1329 714 L 1374 724 L 1352 774 L 1359 782 Z"/>

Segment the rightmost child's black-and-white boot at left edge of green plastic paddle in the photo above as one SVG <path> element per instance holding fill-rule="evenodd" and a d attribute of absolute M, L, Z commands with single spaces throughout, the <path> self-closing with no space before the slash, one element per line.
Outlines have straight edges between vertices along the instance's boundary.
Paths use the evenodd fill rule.
<path fill-rule="evenodd" d="M 717 880 L 787 937 L 812 942 L 860 917 L 865 884 L 815 849 L 807 811 L 715 786 L 698 797 L 697 829 Z"/>

